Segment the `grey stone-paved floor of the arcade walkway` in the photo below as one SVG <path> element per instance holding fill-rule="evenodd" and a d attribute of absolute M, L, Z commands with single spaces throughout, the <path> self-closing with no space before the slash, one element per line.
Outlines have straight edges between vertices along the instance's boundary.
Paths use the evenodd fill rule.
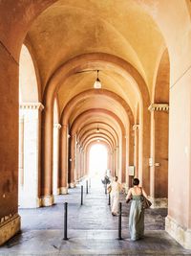
<path fill-rule="evenodd" d="M 85 186 L 84 186 L 85 187 Z M 57 196 L 52 207 L 20 209 L 22 232 L 0 247 L 0 255 L 191 255 L 164 231 L 166 209 L 145 213 L 145 238 L 129 240 L 129 205 L 122 201 L 122 240 L 118 240 L 118 218 L 113 217 L 104 188 L 84 192 L 80 205 L 80 185 L 67 196 Z M 63 240 L 63 203 L 69 203 L 68 241 Z"/>

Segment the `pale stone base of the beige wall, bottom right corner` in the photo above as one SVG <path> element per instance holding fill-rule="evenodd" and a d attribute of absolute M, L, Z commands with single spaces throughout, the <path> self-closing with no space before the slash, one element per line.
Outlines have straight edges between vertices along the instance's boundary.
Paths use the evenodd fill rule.
<path fill-rule="evenodd" d="M 185 249 L 191 249 L 191 229 L 182 227 L 170 216 L 165 218 L 165 230 Z"/>

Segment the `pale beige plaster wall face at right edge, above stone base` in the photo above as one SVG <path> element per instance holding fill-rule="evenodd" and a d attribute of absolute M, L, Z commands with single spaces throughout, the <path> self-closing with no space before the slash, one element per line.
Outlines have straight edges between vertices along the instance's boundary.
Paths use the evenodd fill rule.
<path fill-rule="evenodd" d="M 191 228 L 191 71 L 170 88 L 168 215 Z"/>

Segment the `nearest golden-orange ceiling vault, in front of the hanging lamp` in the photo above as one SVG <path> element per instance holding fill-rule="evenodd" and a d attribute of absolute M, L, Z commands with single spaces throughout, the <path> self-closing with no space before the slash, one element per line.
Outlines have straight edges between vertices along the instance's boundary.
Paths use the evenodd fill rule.
<path fill-rule="evenodd" d="M 41 67 L 43 86 L 68 59 L 103 52 L 130 62 L 150 88 L 155 61 L 164 46 L 157 24 L 133 0 L 119 4 L 108 0 L 57 1 L 33 22 L 28 37 Z"/>

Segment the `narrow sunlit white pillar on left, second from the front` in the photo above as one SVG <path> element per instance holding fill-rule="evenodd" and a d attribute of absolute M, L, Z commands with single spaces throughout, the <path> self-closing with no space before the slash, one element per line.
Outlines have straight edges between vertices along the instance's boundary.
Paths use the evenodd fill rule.
<path fill-rule="evenodd" d="M 59 160 L 59 129 L 60 124 L 53 124 L 53 195 L 60 194 L 58 184 L 58 160 Z"/>

